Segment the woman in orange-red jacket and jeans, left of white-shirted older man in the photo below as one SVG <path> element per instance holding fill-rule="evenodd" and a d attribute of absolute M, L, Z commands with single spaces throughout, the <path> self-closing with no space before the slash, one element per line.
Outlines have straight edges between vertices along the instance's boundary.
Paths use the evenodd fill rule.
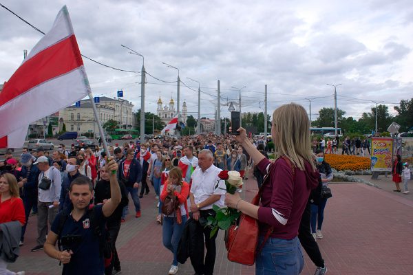
<path fill-rule="evenodd" d="M 165 201 L 167 195 L 175 195 L 178 197 L 179 207 L 170 215 L 163 217 L 162 225 L 162 241 L 165 248 L 173 253 L 173 261 L 169 274 L 178 272 L 178 244 L 185 223 L 189 217 L 187 197 L 189 195 L 189 184 L 182 181 L 182 171 L 180 168 L 174 167 L 169 170 L 169 177 L 160 194 L 160 200 Z"/>

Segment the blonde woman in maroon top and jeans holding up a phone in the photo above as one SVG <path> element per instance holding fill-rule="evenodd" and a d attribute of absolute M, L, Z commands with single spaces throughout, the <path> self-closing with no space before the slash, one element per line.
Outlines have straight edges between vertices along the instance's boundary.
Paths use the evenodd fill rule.
<path fill-rule="evenodd" d="M 246 131 L 238 129 L 235 140 L 252 157 L 260 171 L 268 177 L 262 184 L 261 206 L 226 193 L 225 203 L 260 223 L 260 244 L 255 274 L 299 274 L 304 258 L 297 237 L 301 215 L 306 208 L 310 190 L 317 187 L 319 173 L 311 151 L 310 129 L 306 109 L 299 104 L 285 104 L 273 113 L 271 135 L 278 158 L 273 164 L 249 142 Z M 264 237 L 268 230 L 271 234 Z M 260 245 L 258 245 L 260 246 Z M 275 256 L 282 254 L 283 256 Z"/>

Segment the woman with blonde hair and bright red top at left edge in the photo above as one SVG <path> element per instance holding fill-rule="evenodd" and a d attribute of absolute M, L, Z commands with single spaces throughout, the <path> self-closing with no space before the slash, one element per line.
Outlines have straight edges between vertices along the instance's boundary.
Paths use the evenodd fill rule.
<path fill-rule="evenodd" d="M 20 225 L 23 226 L 25 224 L 25 212 L 23 201 L 19 197 L 19 186 L 16 177 L 10 173 L 5 173 L 0 177 L 0 230 L 2 228 L 6 229 L 6 225 L 3 223 L 11 221 L 19 221 Z M 19 235 L 17 238 L 20 239 L 21 228 L 17 230 L 19 231 L 16 232 Z M 16 245 L 19 245 L 18 241 Z M 0 274 L 24 274 L 24 272 L 14 273 L 7 270 L 8 262 L 16 261 L 16 259 L 8 259 L 7 255 L 11 254 L 10 251 L 0 251 L 0 254 L 3 255 L 0 257 Z"/>

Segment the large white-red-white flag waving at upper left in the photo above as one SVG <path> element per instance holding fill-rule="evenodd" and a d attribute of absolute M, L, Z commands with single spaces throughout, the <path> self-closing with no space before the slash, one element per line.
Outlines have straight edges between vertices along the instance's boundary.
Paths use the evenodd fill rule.
<path fill-rule="evenodd" d="M 30 122 L 87 96 L 89 81 L 64 6 L 0 93 L 0 148 L 23 146 Z"/>

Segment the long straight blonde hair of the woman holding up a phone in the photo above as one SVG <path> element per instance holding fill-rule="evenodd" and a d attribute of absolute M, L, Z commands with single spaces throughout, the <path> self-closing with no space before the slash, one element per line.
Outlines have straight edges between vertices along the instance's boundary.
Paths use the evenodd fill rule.
<path fill-rule="evenodd" d="M 278 107 L 273 113 L 273 127 L 277 155 L 286 155 L 300 170 L 305 170 L 304 161 L 315 170 L 306 109 L 295 103 Z"/>

